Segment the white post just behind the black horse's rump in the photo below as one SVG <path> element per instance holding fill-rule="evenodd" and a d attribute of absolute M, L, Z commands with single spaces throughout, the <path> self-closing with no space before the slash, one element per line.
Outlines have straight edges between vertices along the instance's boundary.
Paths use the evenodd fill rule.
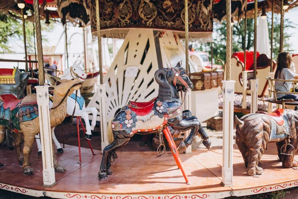
<path fill-rule="evenodd" d="M 100 114 L 100 134 L 101 134 L 101 152 L 104 147 L 109 144 L 108 129 L 107 129 L 107 108 L 106 108 L 106 85 L 98 85 L 96 99 L 99 99 L 99 114 Z"/>

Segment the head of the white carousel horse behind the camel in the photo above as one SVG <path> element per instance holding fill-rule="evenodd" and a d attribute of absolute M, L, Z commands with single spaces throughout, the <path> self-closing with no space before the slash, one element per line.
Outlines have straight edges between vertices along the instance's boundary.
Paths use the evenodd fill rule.
<path fill-rule="evenodd" d="M 87 77 L 86 73 L 83 71 L 83 69 L 80 67 L 81 62 L 75 61 L 73 66 L 70 68 L 65 69 L 63 75 L 61 76 L 61 79 L 67 79 L 72 80 L 75 78 L 80 79 L 81 81 L 84 81 Z"/>

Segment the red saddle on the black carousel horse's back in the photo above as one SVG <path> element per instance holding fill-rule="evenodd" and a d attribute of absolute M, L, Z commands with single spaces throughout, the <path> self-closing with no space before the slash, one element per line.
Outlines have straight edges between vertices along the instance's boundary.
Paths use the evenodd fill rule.
<path fill-rule="evenodd" d="M 137 115 L 144 116 L 144 115 L 149 114 L 149 112 L 152 111 L 155 100 L 156 100 L 156 98 L 154 98 L 153 100 L 147 101 L 147 102 L 129 101 L 127 106 L 132 111 L 134 111 Z"/>

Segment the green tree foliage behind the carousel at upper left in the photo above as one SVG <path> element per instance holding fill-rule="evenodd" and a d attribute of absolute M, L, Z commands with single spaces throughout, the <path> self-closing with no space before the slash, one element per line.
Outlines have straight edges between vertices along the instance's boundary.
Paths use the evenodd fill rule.
<path fill-rule="evenodd" d="M 33 34 L 33 22 L 25 20 L 26 27 L 26 42 L 28 53 L 34 53 L 34 34 Z M 42 33 L 51 32 L 54 27 L 54 23 L 50 23 L 47 26 L 41 21 Z M 12 49 L 9 46 L 9 42 L 13 40 L 23 41 L 23 26 L 22 20 L 16 17 L 7 15 L 6 13 L 0 13 L 0 53 L 10 53 Z M 47 38 L 43 34 L 43 42 L 47 42 Z"/>

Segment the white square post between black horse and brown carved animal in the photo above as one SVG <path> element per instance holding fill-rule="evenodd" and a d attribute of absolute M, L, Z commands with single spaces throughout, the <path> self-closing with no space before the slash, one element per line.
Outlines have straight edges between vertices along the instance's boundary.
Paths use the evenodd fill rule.
<path fill-rule="evenodd" d="M 233 186 L 233 114 L 235 81 L 222 81 L 223 104 L 223 167 L 222 185 Z"/>

